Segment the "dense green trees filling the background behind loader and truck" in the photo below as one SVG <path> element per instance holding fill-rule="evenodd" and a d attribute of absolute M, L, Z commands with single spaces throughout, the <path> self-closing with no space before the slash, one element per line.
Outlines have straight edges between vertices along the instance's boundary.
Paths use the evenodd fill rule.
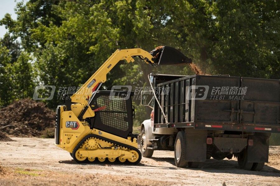
<path fill-rule="evenodd" d="M 4 44 L 3 38 L 0 50 L 3 105 L 32 95 L 34 82 L 55 85 L 56 91 L 80 86 L 118 48 L 149 51 L 168 45 L 191 57 L 206 74 L 280 78 L 276 0 L 30 0 L 15 9 L 16 20 L 9 14 L 1 20 L 12 40 Z M 15 50 L 17 38 L 21 49 Z M 16 72 L 22 73 L 13 77 Z M 121 63 L 103 88 L 143 86 L 152 72 L 192 73 L 189 66 Z M 29 83 L 21 84 L 23 80 Z M 59 103 L 56 98 L 48 102 L 52 108 Z"/>

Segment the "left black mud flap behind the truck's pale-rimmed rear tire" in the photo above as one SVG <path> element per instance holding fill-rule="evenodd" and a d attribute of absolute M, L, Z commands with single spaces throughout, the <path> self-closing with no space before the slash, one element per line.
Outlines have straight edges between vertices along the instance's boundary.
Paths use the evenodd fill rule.
<path fill-rule="evenodd" d="M 185 160 L 188 162 L 206 161 L 207 130 L 185 130 Z"/>

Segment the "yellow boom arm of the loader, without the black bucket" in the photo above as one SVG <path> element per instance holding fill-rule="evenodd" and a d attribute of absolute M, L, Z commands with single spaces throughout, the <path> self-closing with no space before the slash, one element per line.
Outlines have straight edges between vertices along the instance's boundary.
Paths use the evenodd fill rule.
<path fill-rule="evenodd" d="M 144 60 L 147 64 L 153 64 L 153 56 L 142 50 L 141 48 L 133 49 L 118 49 L 105 61 L 104 64 L 89 78 L 85 84 L 71 96 L 71 102 L 73 103 L 87 103 L 88 98 L 91 97 L 92 89 L 98 83 L 104 83 L 106 81 L 106 75 L 110 70 L 121 60 L 126 60 L 128 63 L 134 62 L 133 57 L 138 56 Z"/>

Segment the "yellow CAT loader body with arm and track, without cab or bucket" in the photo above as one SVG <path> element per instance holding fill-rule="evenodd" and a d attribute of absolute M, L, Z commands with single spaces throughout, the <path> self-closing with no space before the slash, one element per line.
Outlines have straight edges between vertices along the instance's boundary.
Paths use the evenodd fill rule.
<path fill-rule="evenodd" d="M 135 137 L 122 138 L 95 128 L 90 128 L 86 118 L 95 117 L 95 112 L 89 106 L 92 88 L 106 81 L 106 75 L 121 60 L 133 62 L 138 56 L 147 64 L 152 64 L 152 55 L 140 48 L 115 51 L 108 60 L 88 79 L 88 81 L 71 96 L 71 109 L 65 105 L 58 106 L 59 142 L 56 145 L 69 153 L 77 162 L 106 160 L 114 162 L 139 162 L 141 154 L 137 150 Z M 85 112 L 81 116 L 82 111 Z M 79 116 L 80 119 L 79 119 Z M 58 130 L 58 129 L 56 129 Z M 84 139 L 89 136 L 87 139 Z M 132 139 L 133 138 L 133 139 Z M 104 140 L 105 139 L 105 140 Z M 110 139 L 110 140 L 106 140 Z M 81 143 L 82 142 L 82 143 Z M 80 143 L 80 144 L 79 144 Z M 79 145 L 79 147 L 77 147 Z M 76 148 L 76 149 L 75 149 Z M 75 153 L 75 154 L 72 154 Z M 139 159 L 140 158 L 140 159 Z"/>

